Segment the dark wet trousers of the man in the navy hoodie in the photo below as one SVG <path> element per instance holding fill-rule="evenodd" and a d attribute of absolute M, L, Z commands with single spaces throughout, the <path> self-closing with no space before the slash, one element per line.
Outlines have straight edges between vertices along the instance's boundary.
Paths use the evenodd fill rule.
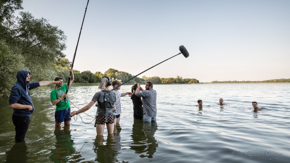
<path fill-rule="evenodd" d="M 25 139 L 26 132 L 30 124 L 30 116 L 12 115 L 12 122 L 15 126 L 15 142 L 21 142 Z"/>

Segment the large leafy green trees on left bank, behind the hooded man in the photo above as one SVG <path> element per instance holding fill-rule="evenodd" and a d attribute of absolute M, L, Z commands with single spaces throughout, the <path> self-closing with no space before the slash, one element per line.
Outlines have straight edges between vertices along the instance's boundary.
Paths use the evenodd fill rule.
<path fill-rule="evenodd" d="M 65 57 L 66 36 L 46 19 L 36 19 L 28 12 L 20 12 L 15 18 L 13 14 L 22 9 L 21 3 L 0 0 L 1 93 L 11 89 L 19 70 L 30 71 L 31 82 L 52 80 L 62 72 L 54 61 Z"/>

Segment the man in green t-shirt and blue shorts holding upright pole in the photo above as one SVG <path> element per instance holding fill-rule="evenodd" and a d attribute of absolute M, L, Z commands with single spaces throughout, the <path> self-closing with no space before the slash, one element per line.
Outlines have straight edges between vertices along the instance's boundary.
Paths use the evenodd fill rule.
<path fill-rule="evenodd" d="M 74 75 L 72 69 L 69 70 L 72 73 L 70 84 L 74 80 Z M 56 110 L 54 113 L 55 118 L 55 126 L 58 127 L 61 125 L 61 122 L 64 122 L 64 125 L 69 125 L 71 121 L 70 118 L 70 105 L 69 99 L 66 94 L 67 83 L 63 85 L 63 78 L 56 77 L 54 81 L 60 81 L 60 84 L 56 84 L 55 89 L 53 89 L 50 93 L 50 101 L 53 105 L 56 105 Z M 66 98 L 66 101 L 64 100 Z"/>

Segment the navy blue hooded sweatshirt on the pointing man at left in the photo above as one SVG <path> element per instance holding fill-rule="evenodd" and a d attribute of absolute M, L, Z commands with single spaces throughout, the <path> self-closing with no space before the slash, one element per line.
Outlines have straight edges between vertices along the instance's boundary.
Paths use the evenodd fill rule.
<path fill-rule="evenodd" d="M 30 74 L 29 71 L 20 70 L 17 72 L 17 81 L 11 89 L 11 94 L 9 97 L 9 105 L 14 103 L 19 103 L 22 105 L 30 105 L 33 107 L 31 111 L 28 109 L 14 109 L 13 114 L 16 116 L 31 116 L 34 112 L 34 106 L 31 100 L 29 90 L 39 87 L 39 82 L 26 83 L 27 75 Z"/>

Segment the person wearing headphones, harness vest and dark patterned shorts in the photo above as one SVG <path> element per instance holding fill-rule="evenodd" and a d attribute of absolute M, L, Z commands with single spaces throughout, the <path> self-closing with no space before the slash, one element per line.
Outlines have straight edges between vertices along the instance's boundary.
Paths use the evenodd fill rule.
<path fill-rule="evenodd" d="M 98 87 L 101 91 L 95 93 L 91 102 L 82 109 L 73 111 L 70 116 L 85 112 L 89 110 L 96 102 L 98 102 L 98 111 L 95 126 L 97 127 L 97 135 L 103 135 L 105 124 L 107 126 L 108 134 L 114 132 L 114 103 L 116 102 L 116 94 L 109 89 L 112 81 L 109 77 L 102 77 L 101 84 Z"/>

